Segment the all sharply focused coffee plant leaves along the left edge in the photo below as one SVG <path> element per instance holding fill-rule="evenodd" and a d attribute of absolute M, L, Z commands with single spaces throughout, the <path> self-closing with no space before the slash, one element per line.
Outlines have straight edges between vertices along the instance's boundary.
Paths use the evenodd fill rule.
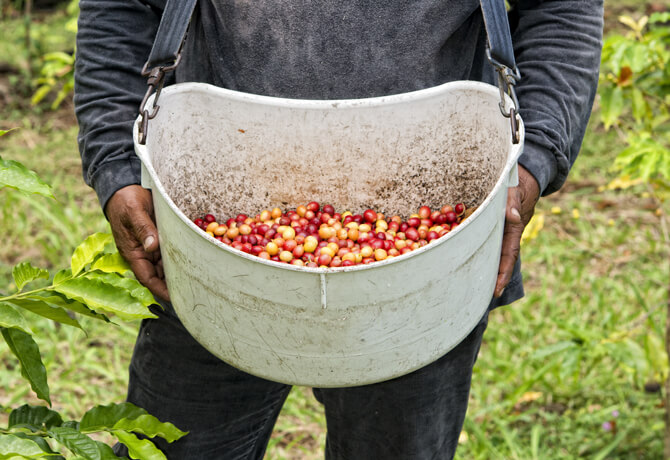
<path fill-rule="evenodd" d="M 3 162 L 2 166 L 0 187 L 53 197 L 51 188 L 21 163 Z M 35 340 L 39 332 L 33 331 L 31 323 L 41 317 L 81 329 L 77 315 L 104 322 L 110 322 L 108 314 L 124 320 L 155 317 L 148 308 L 156 303 L 155 299 L 137 280 L 125 277 L 129 272 L 130 267 L 108 233 L 86 238 L 75 248 L 70 267 L 56 272 L 53 278 L 48 270 L 29 262 L 14 266 L 15 292 L 0 294 L 0 333 L 38 398 L 51 405 L 47 370 Z M 50 278 L 50 283 L 44 282 Z M 26 286 L 30 289 L 26 290 Z M 186 434 L 130 403 L 97 406 L 80 421 L 65 422 L 56 411 L 24 405 L 10 413 L 7 428 L 0 428 L 0 460 L 62 459 L 62 449 L 76 459 L 119 458 L 111 447 L 90 436 L 101 432 L 125 444 L 132 458 L 156 460 L 165 459 L 164 454 L 151 440 L 140 439 L 136 434 L 144 438 L 158 436 L 168 442 Z M 57 451 L 52 445 L 59 446 Z"/>

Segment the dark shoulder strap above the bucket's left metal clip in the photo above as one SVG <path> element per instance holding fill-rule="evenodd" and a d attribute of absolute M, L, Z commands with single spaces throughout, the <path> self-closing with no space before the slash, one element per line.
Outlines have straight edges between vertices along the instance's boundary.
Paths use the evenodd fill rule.
<path fill-rule="evenodd" d="M 196 0 L 167 1 L 145 68 L 170 66 L 175 63 L 186 37 L 195 3 Z"/>

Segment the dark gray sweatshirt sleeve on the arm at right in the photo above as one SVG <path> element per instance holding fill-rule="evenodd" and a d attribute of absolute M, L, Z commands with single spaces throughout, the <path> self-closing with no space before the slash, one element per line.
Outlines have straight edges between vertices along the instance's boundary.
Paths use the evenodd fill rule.
<path fill-rule="evenodd" d="M 603 2 L 521 0 L 515 10 L 510 23 L 521 72 L 516 91 L 526 128 L 519 163 L 548 195 L 565 182 L 591 114 Z"/>

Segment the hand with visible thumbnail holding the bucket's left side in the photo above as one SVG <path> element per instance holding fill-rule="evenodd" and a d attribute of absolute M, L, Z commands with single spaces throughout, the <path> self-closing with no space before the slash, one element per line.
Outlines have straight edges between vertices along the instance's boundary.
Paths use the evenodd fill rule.
<path fill-rule="evenodd" d="M 105 214 L 112 227 L 116 247 L 137 280 L 154 296 L 170 300 L 158 247 L 151 192 L 139 185 L 123 187 L 109 199 Z"/>

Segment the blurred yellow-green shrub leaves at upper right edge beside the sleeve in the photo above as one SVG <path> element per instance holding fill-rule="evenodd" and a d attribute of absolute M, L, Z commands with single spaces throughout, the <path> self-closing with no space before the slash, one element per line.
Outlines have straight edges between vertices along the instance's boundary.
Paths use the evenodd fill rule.
<path fill-rule="evenodd" d="M 624 176 L 670 181 L 670 13 L 638 21 L 619 18 L 629 32 L 603 46 L 600 118 L 621 130 L 627 147 L 614 166 Z M 628 103 L 627 101 L 630 101 Z"/>

